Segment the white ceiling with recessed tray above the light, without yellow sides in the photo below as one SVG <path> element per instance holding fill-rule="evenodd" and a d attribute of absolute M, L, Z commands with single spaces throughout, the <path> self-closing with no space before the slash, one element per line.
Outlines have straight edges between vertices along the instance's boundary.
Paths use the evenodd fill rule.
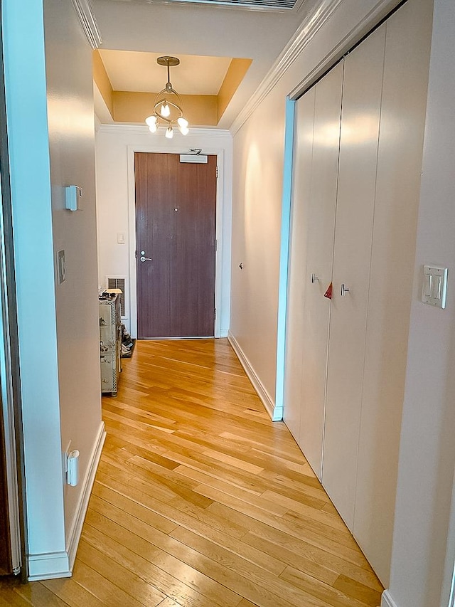
<path fill-rule="evenodd" d="M 114 90 L 158 92 L 164 88 L 167 73 L 156 58 L 170 55 L 181 59 L 181 65 L 171 68 L 171 83 L 178 93 L 216 95 L 230 58 L 251 59 L 218 123 L 218 128 L 229 128 L 306 14 L 320 1 L 297 0 L 294 9 L 287 11 L 214 6 L 212 0 L 205 4 L 91 0 L 91 4 L 103 41 L 100 55 Z M 102 110 L 97 114 L 106 115 Z"/>

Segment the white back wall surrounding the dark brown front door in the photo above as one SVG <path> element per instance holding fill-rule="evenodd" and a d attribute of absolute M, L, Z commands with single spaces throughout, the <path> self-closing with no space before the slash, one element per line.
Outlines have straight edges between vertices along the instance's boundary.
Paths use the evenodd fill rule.
<path fill-rule="evenodd" d="M 230 225 L 232 204 L 232 137 L 228 131 L 193 130 L 173 139 L 162 132 L 151 134 L 148 127 L 101 125 L 96 137 L 98 258 L 100 286 L 106 276 L 127 278 L 129 318 L 125 325 L 135 337 L 136 272 L 134 226 L 134 151 L 188 153 L 203 148 L 204 154 L 219 154 L 220 173 L 217 201 L 217 285 L 218 334 L 228 334 L 230 315 Z M 125 243 L 117 243 L 122 233 Z M 131 287 L 131 289 L 130 289 Z M 130 292 L 131 290 L 131 292 Z"/>

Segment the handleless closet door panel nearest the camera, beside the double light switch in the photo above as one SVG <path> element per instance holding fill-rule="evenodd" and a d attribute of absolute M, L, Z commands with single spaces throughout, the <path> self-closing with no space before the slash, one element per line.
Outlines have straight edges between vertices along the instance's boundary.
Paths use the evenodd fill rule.
<path fill-rule="evenodd" d="M 407 2 L 387 21 L 354 518 L 354 535 L 386 587 L 431 36 L 429 0 Z"/>

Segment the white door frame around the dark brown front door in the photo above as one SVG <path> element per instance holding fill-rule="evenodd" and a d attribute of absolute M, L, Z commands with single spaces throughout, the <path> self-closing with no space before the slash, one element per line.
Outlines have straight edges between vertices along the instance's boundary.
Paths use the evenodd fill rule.
<path fill-rule="evenodd" d="M 175 147 L 163 145 L 129 145 L 128 146 L 128 223 L 129 223 L 129 316 L 130 333 L 137 337 L 137 266 L 136 266 L 136 184 L 134 179 L 134 153 L 149 154 L 188 154 L 188 149 L 179 152 Z M 215 201 L 215 326 L 214 337 L 221 335 L 221 285 L 223 281 L 223 168 L 224 150 L 220 148 L 203 148 L 204 155 L 216 156 L 218 179 L 216 181 Z"/>

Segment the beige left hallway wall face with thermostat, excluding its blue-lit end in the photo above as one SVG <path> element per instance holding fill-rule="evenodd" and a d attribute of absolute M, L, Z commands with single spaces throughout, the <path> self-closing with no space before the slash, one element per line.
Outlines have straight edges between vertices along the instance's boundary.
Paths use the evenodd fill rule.
<path fill-rule="evenodd" d="M 71 0 L 45 0 L 44 17 L 53 249 L 54 258 L 64 249 L 66 262 L 65 282 L 55 282 L 61 447 L 71 442 L 80 451 L 79 485 L 64 485 L 65 537 L 73 550 L 103 431 L 92 48 Z M 65 209 L 70 184 L 82 187 L 80 211 Z"/>

